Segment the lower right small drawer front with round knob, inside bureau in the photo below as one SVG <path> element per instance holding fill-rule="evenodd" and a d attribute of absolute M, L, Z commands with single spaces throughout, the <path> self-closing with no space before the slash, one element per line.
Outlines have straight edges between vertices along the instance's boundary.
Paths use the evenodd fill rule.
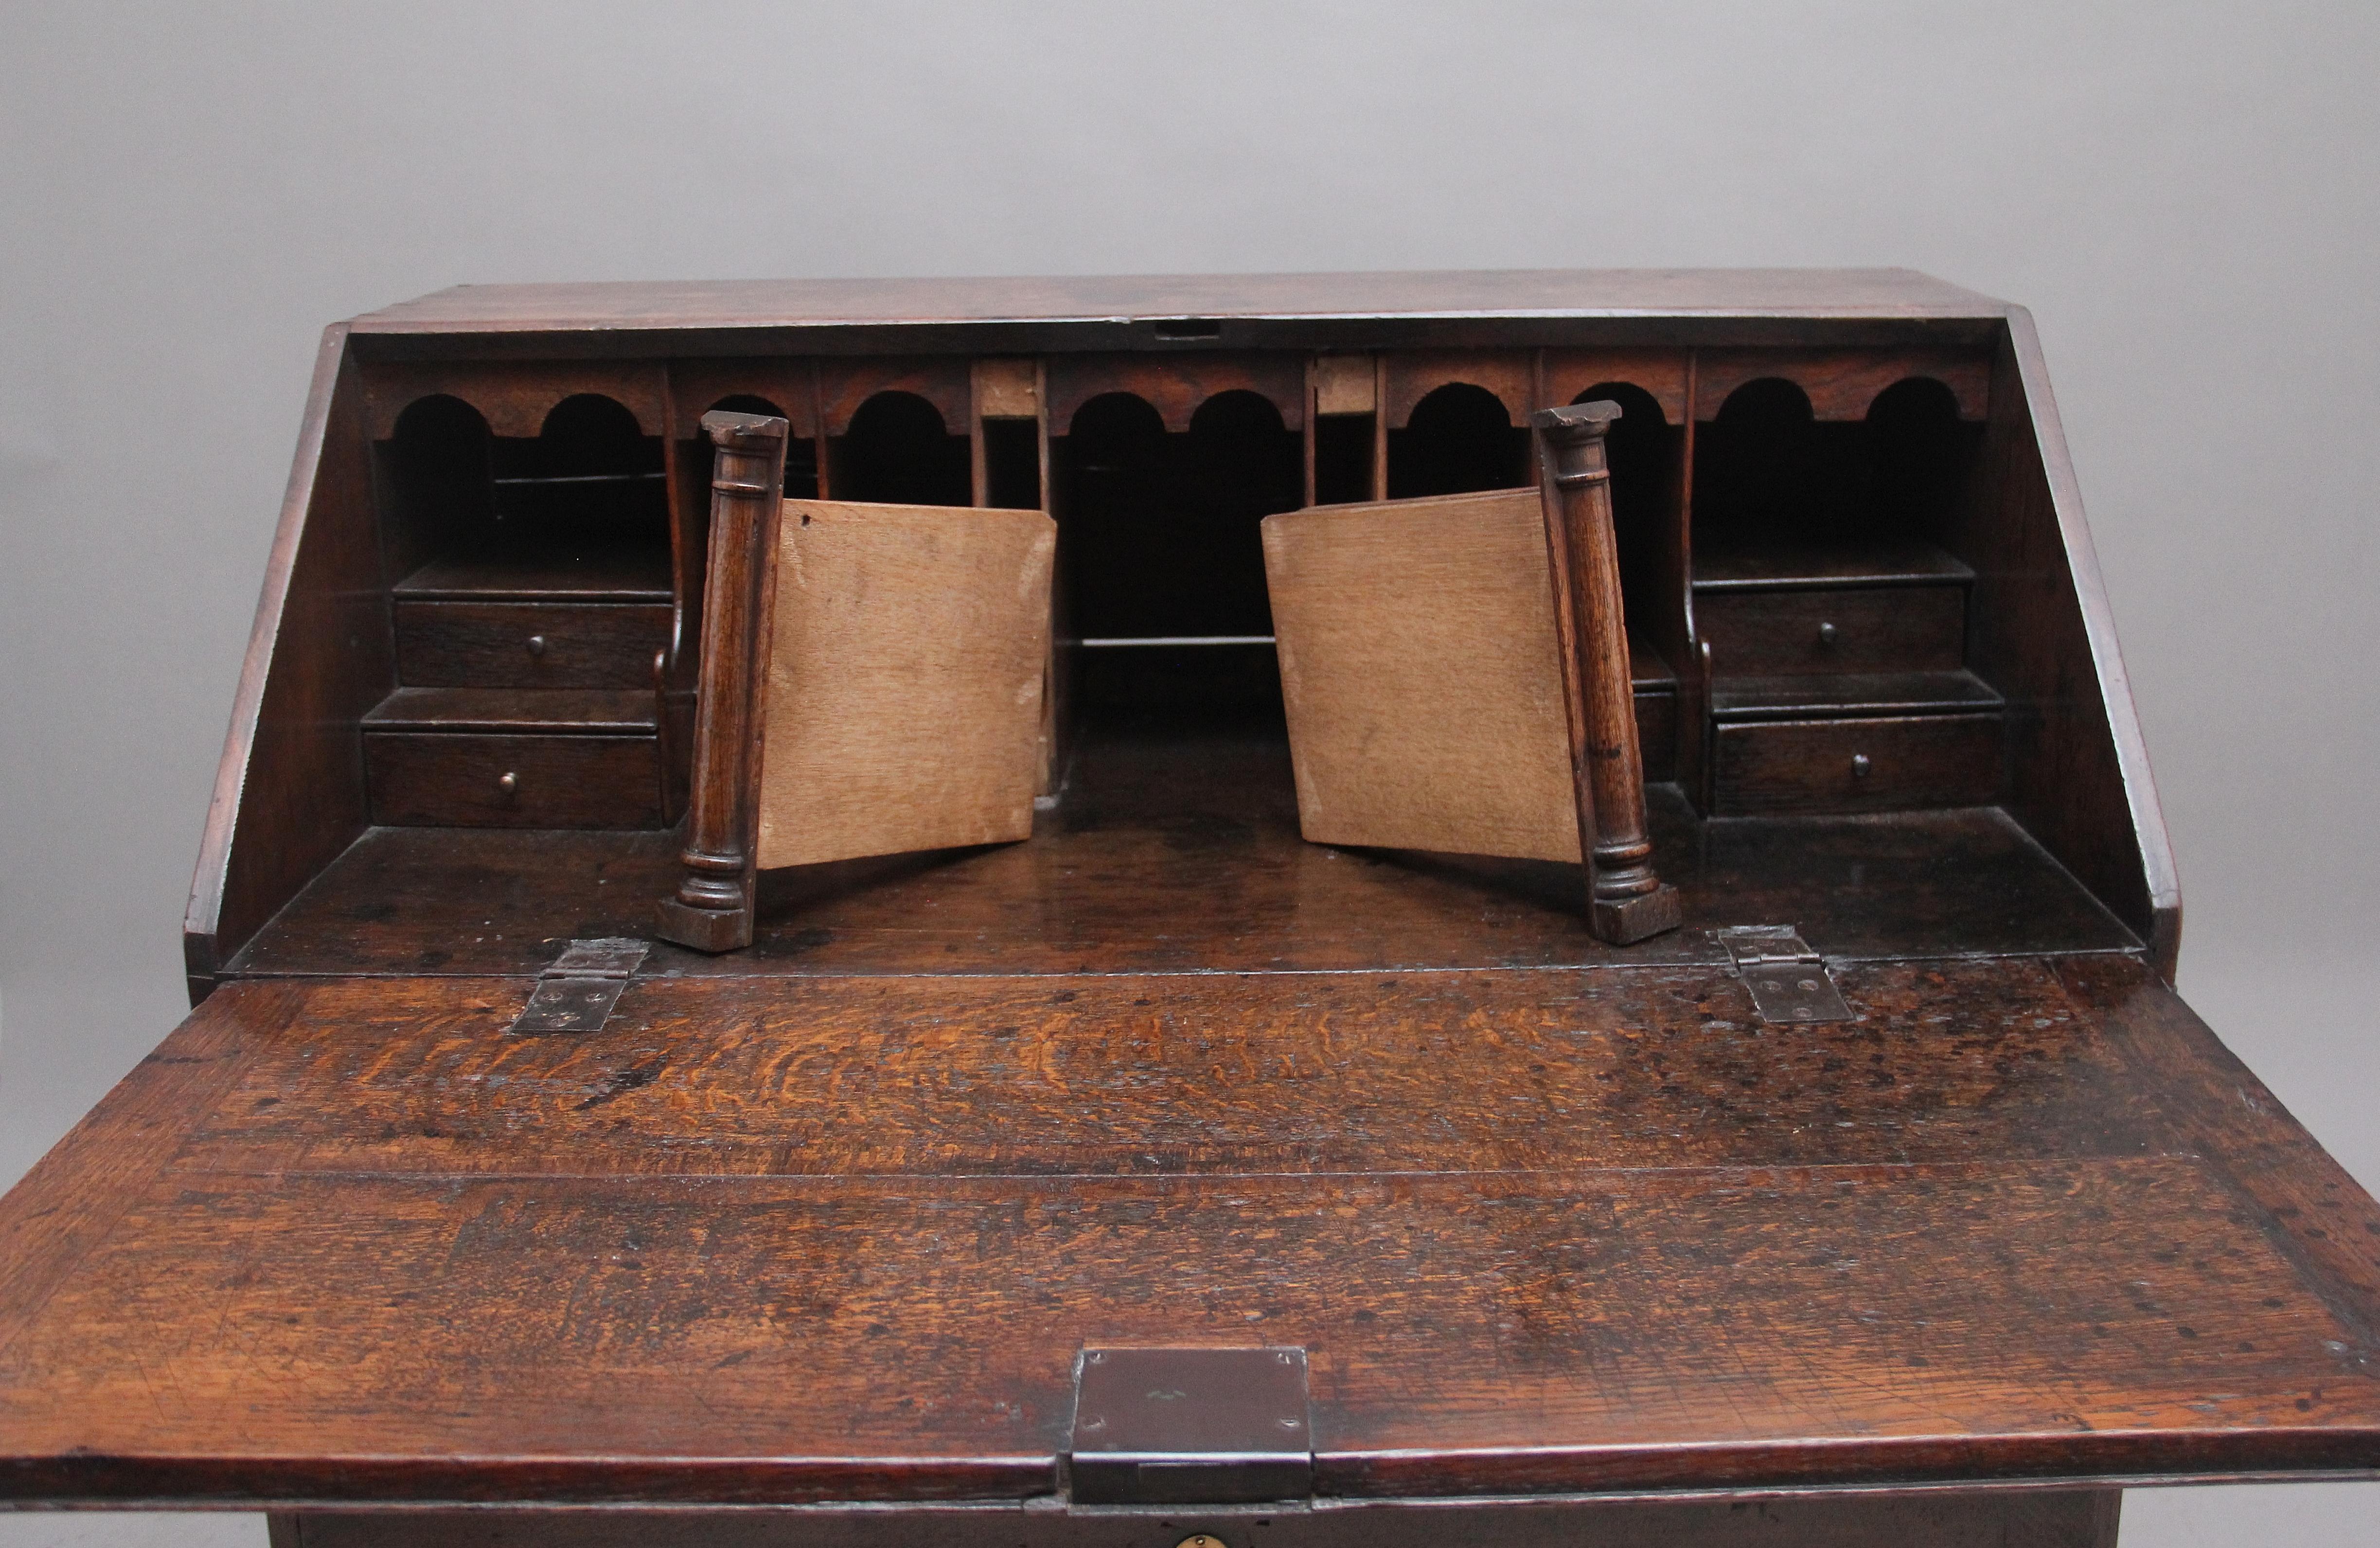
<path fill-rule="evenodd" d="M 1999 798 L 1999 745 L 1997 714 L 1723 724 L 1714 805 L 1726 817 L 1985 805 Z"/>

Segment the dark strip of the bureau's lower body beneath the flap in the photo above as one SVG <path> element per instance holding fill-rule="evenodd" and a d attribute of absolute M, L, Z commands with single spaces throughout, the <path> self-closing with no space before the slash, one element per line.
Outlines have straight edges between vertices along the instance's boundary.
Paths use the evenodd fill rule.
<path fill-rule="evenodd" d="M 2123 1493 L 919 1510 L 305 1510 L 271 1548 L 2116 1548 Z"/>

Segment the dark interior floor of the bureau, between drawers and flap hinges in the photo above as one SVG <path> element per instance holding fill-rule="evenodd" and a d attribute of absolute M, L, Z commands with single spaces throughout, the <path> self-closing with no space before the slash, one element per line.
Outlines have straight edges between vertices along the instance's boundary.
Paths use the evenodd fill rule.
<path fill-rule="evenodd" d="M 1297 834 L 1278 738 L 1100 734 L 1031 843 L 764 876 L 750 950 L 683 974 L 1280 972 L 1721 960 L 1704 934 L 1799 924 L 1830 955 L 2128 950 L 2137 941 L 1997 812 L 1695 822 L 1649 791 L 1687 931 L 1609 948 L 1576 867 L 1330 850 Z M 378 831 L 238 960 L 259 974 L 538 972 L 571 936 L 647 931 L 662 834 Z M 452 919 L 471 922 L 457 931 Z"/>

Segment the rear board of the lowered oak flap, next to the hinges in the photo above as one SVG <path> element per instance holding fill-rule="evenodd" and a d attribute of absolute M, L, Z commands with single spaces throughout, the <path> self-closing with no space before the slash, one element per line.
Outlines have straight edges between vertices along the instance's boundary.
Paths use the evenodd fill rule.
<path fill-rule="evenodd" d="M 1847 965 L 1785 1038 L 1726 969 L 328 979 L 183 1160 L 219 1172 L 1133 1176 L 2140 1155 L 2132 1055 L 2040 962 Z M 326 1100 L 326 1093 L 338 1093 Z"/>

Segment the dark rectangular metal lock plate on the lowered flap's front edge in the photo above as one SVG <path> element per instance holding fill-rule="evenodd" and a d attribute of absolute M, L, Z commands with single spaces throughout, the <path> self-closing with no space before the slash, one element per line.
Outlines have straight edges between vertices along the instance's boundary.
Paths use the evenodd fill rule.
<path fill-rule="evenodd" d="M 1307 1350 L 1085 1348 L 1069 1472 L 1085 1505 L 1307 1498 Z"/>

